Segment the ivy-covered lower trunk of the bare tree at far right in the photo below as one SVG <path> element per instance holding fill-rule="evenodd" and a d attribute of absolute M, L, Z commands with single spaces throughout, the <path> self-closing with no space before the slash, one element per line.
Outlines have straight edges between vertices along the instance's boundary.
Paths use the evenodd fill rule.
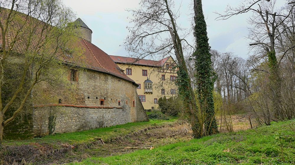
<path fill-rule="evenodd" d="M 277 118 L 285 119 L 281 108 L 281 77 L 279 73 L 278 60 L 276 59 L 276 51 L 273 49 L 267 52 L 268 67 L 270 70 L 269 90 L 272 95 L 272 105 Z"/>

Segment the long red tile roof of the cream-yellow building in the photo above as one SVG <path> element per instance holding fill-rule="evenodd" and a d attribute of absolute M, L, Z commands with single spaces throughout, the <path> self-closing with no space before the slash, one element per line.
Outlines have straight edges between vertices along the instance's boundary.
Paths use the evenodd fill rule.
<path fill-rule="evenodd" d="M 158 61 L 116 56 L 116 55 L 110 55 L 110 57 L 115 63 L 162 67 L 170 56 Z"/>

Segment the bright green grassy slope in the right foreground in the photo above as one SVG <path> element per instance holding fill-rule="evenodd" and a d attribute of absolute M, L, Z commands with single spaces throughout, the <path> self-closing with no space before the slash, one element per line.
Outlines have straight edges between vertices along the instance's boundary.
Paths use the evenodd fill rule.
<path fill-rule="evenodd" d="M 90 158 L 81 164 L 294 164 L 295 120 L 247 131 L 217 134 L 154 150 Z M 281 147 L 283 148 L 283 156 Z M 283 158 L 285 161 L 283 162 Z"/>

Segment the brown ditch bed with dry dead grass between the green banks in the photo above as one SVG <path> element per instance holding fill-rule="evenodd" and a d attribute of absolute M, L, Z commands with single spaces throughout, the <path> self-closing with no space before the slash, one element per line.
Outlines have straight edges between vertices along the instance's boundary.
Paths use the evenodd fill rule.
<path fill-rule="evenodd" d="M 232 116 L 232 124 L 234 131 L 251 128 L 249 117 L 246 115 Z M 222 127 L 220 132 L 227 132 L 227 129 Z M 80 144 L 77 146 L 59 144 L 63 146 L 63 149 L 60 150 L 54 150 L 50 144 L 39 143 L 6 146 L 4 154 L 2 153 L 4 159 L 0 164 L 64 164 L 81 161 L 92 156 L 106 157 L 130 153 L 136 150 L 124 149 L 126 147 L 156 148 L 167 144 L 186 142 L 192 139 L 191 135 L 192 131 L 189 124 L 177 123 L 157 128 L 142 129 L 124 137 L 109 139 L 106 142 L 102 139 L 97 139 L 96 142 L 91 144 Z"/>

